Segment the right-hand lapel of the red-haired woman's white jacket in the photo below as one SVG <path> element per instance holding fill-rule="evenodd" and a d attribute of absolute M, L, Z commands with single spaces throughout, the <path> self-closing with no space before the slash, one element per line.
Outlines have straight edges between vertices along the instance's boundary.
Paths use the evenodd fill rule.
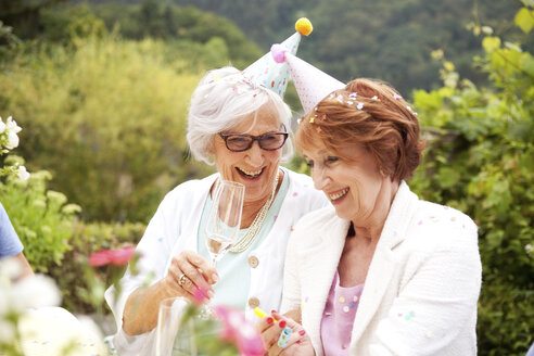
<path fill-rule="evenodd" d="M 359 341 L 369 322 L 374 317 L 391 279 L 397 268 L 394 249 L 405 240 L 409 220 L 416 209 L 418 198 L 406 182 L 402 182 L 393 201 L 377 250 L 369 266 L 364 293 L 356 312 L 351 344 Z"/>

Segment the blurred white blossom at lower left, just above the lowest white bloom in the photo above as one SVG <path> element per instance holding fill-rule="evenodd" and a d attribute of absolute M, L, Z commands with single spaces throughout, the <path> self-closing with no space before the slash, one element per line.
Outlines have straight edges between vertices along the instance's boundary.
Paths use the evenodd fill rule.
<path fill-rule="evenodd" d="M 56 306 L 61 295 L 55 282 L 44 275 L 27 277 L 13 285 L 13 307 L 18 310 Z"/>

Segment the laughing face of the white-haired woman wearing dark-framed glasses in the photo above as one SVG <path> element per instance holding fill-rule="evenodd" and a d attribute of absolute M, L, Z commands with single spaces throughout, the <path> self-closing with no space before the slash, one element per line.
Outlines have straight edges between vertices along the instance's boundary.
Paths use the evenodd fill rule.
<path fill-rule="evenodd" d="M 256 116 L 256 117 L 254 117 Z M 254 125 L 253 125 L 254 124 Z M 239 125 L 223 134 L 247 134 L 259 136 L 279 132 L 281 123 L 277 112 L 264 105 L 254 115 L 244 117 Z M 232 152 L 226 148 L 225 140 L 214 136 L 214 155 L 217 170 L 223 179 L 233 180 L 245 186 L 245 203 L 265 202 L 272 193 L 275 175 L 282 155 L 282 149 L 262 150 L 255 141 L 250 150 Z"/>

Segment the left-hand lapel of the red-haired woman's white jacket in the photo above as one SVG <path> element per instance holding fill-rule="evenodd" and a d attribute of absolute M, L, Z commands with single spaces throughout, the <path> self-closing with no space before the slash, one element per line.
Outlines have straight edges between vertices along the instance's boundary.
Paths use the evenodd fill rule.
<path fill-rule="evenodd" d="M 335 270 L 345 244 L 348 220 L 340 219 L 334 211 L 318 221 L 319 237 L 301 251 L 302 318 L 316 349 L 320 345 L 320 323 Z M 312 231 L 310 231 L 312 232 Z M 319 232 L 319 233 L 316 233 Z M 312 234 L 310 234 L 312 238 Z"/>

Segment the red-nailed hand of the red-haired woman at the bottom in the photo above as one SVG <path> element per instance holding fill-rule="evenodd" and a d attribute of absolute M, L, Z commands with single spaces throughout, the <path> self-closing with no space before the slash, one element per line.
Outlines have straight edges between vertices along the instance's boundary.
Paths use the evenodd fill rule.
<path fill-rule="evenodd" d="M 276 321 L 275 321 L 276 320 Z M 262 333 L 264 347 L 269 356 L 275 355 L 294 355 L 294 356 L 313 356 L 315 355 L 312 341 L 304 328 L 291 318 L 271 312 L 270 316 L 262 318 L 257 325 Z M 285 343 L 279 345 L 281 333 L 285 328 L 291 329 L 291 336 Z"/>

